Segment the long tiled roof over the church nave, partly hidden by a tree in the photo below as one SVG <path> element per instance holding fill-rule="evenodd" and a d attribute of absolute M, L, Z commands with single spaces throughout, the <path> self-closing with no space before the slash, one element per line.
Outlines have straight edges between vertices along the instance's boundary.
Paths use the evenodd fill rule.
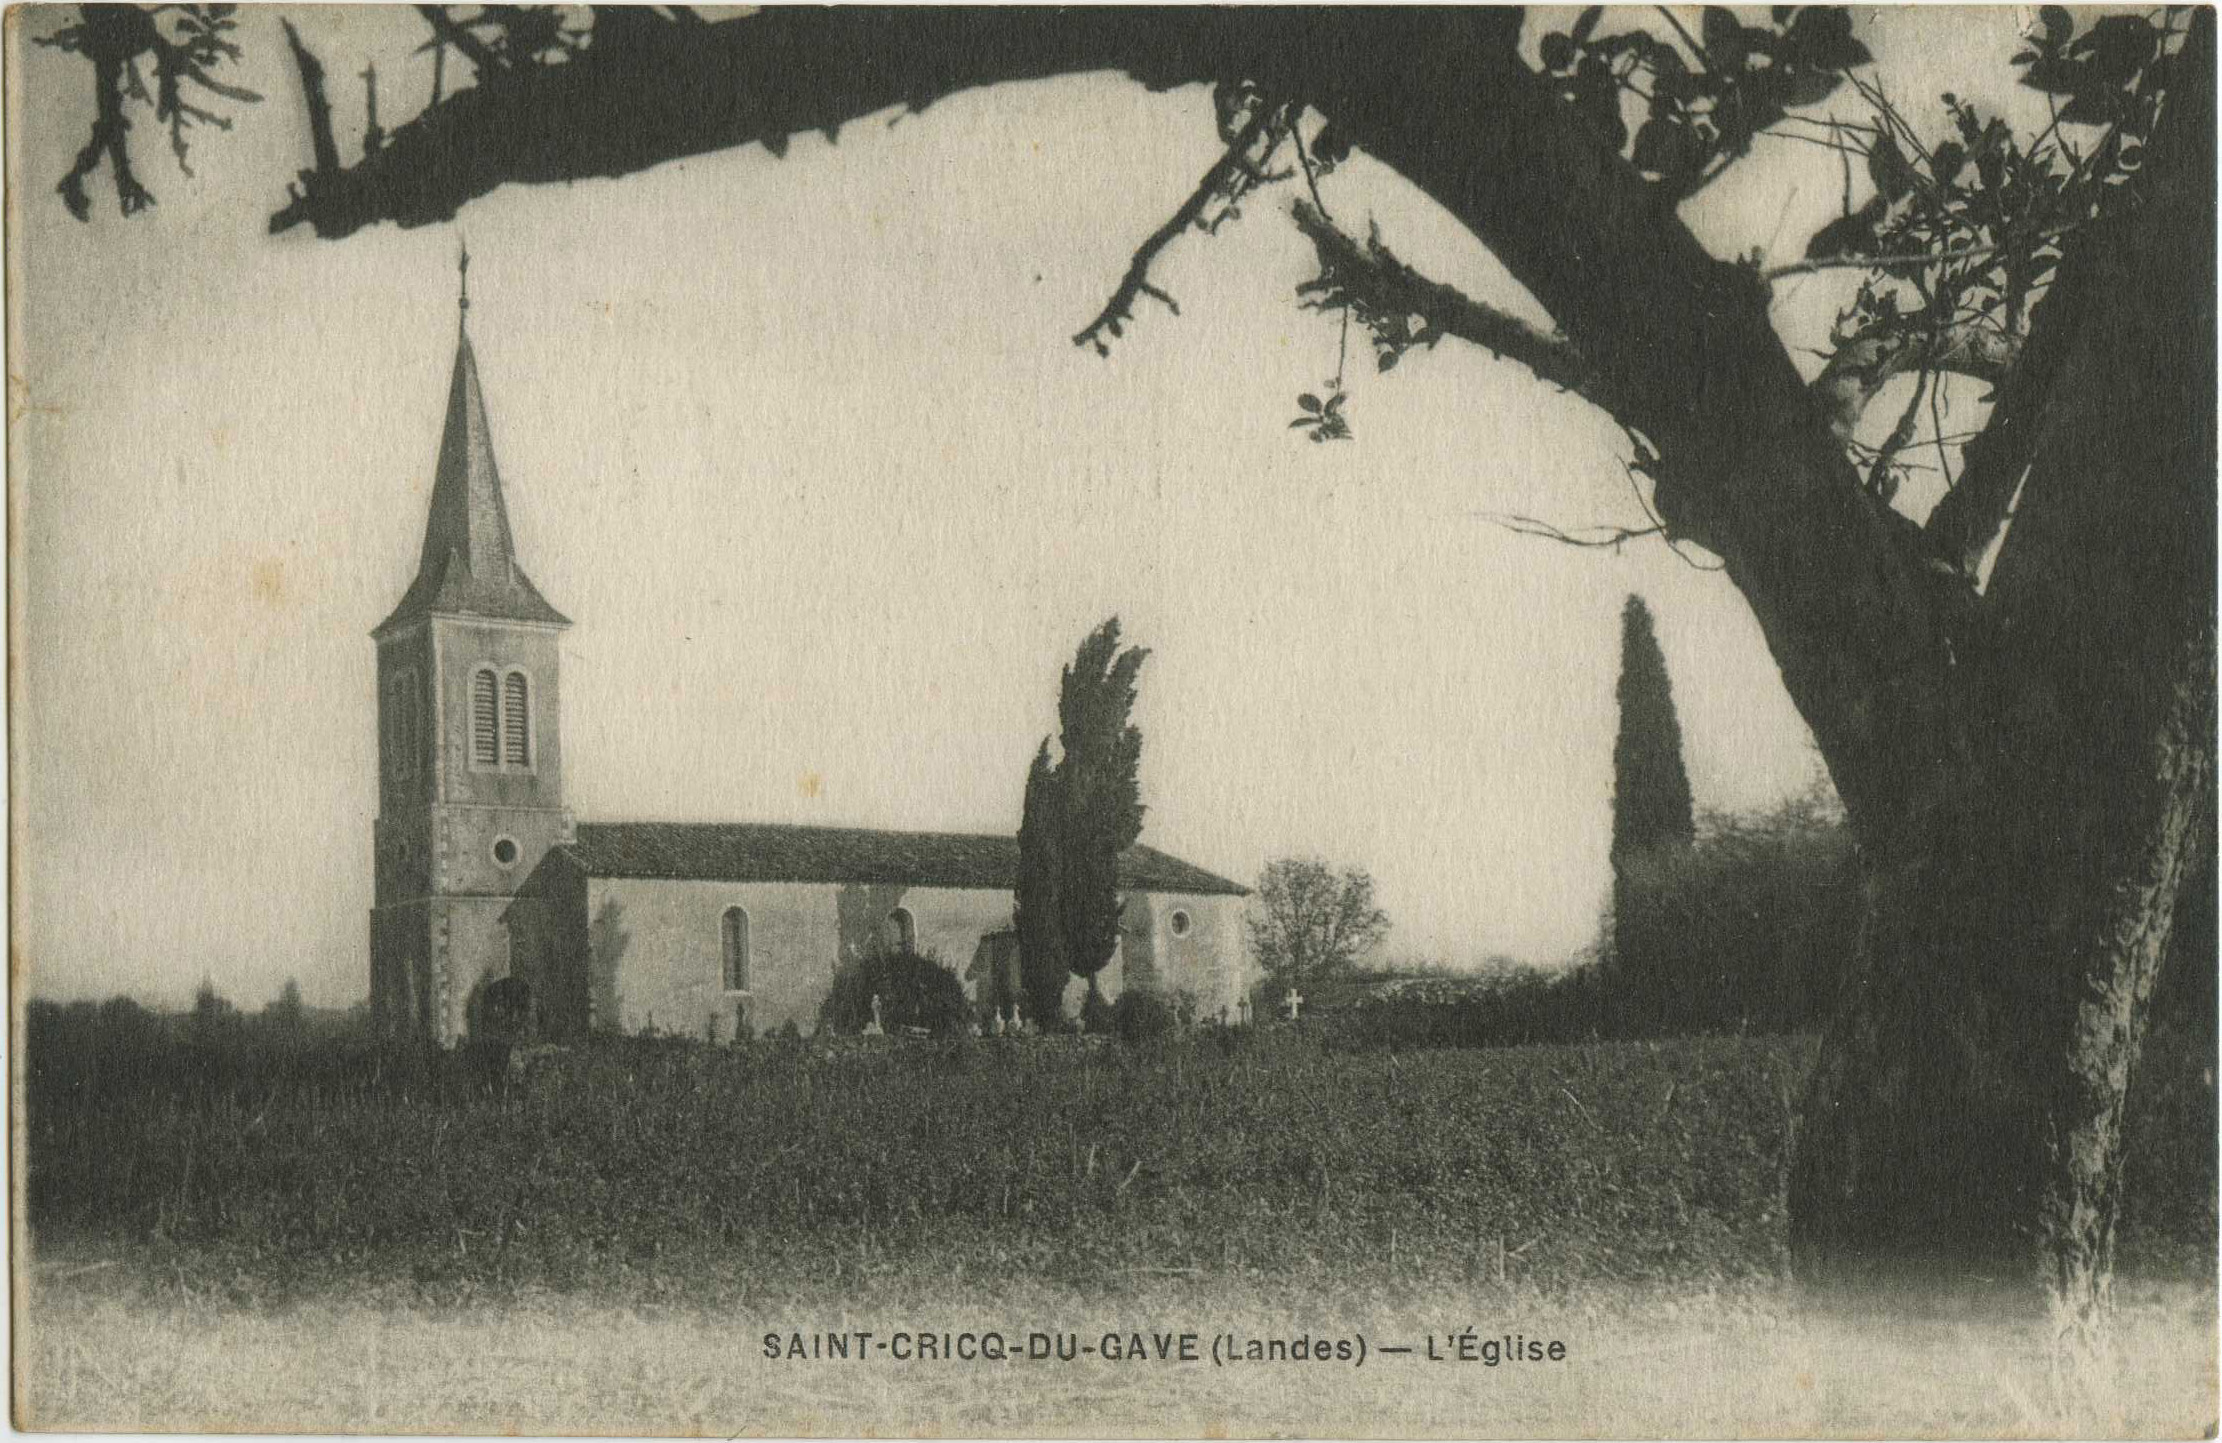
<path fill-rule="evenodd" d="M 589 876 L 718 883 L 1018 885 L 1018 838 L 964 832 L 869 832 L 773 823 L 580 823 L 564 847 Z M 1120 887 L 1247 896 L 1249 887 L 1155 847 L 1120 856 Z"/>

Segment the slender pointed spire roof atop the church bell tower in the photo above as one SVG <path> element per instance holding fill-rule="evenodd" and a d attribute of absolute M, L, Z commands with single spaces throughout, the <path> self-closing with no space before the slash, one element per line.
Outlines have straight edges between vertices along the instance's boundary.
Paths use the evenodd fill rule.
<path fill-rule="evenodd" d="M 456 318 L 456 369 L 447 382 L 447 422 L 440 434 L 440 458 L 433 467 L 424 549 L 418 556 L 418 574 L 409 594 L 402 596 L 393 616 L 380 623 L 378 631 L 429 614 L 569 625 L 518 565 L 516 540 L 509 534 L 509 507 L 502 500 L 502 474 L 493 465 L 487 398 L 478 387 L 478 358 L 471 354 L 469 249 L 458 258 L 458 273 L 462 285 Z"/>

